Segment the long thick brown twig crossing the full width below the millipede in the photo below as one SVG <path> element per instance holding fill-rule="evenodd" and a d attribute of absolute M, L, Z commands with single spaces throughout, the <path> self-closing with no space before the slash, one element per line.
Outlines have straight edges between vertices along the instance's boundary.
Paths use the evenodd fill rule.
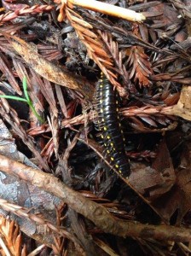
<path fill-rule="evenodd" d="M 132 236 L 159 240 L 190 241 L 191 230 L 168 225 L 149 225 L 128 222 L 114 218 L 105 207 L 90 201 L 78 192 L 68 188 L 64 183 L 48 173 L 40 172 L 14 160 L 0 155 L 0 169 L 3 172 L 16 175 L 26 182 L 61 198 L 76 212 L 89 218 L 97 227 L 106 233 L 116 236 Z"/>

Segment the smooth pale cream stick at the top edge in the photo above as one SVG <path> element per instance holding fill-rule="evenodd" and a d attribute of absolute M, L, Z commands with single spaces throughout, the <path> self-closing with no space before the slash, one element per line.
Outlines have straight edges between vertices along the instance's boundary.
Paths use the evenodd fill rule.
<path fill-rule="evenodd" d="M 102 3 L 95 0 L 69 0 L 69 3 L 83 7 L 84 9 L 91 9 L 101 14 L 113 15 L 115 17 L 122 18 L 124 20 L 142 22 L 146 20 L 146 17 L 141 13 L 138 14 L 131 9 L 124 9 L 119 6 L 115 6 L 109 3 Z"/>

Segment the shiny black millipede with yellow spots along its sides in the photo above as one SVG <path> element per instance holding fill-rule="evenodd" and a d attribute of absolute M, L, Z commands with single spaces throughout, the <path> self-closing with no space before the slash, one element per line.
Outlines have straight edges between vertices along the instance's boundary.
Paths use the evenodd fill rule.
<path fill-rule="evenodd" d="M 119 119 L 119 102 L 113 85 L 101 73 L 99 84 L 96 85 L 97 126 L 101 132 L 101 140 L 106 148 L 107 159 L 115 172 L 128 178 L 130 163 L 124 149 L 124 135 Z"/>

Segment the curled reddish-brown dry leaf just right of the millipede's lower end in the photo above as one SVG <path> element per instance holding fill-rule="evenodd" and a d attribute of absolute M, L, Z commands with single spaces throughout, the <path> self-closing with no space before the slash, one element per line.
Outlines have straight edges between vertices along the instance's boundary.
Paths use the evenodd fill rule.
<path fill-rule="evenodd" d="M 165 141 L 160 143 L 152 167 L 136 164 L 129 179 L 131 185 L 142 195 L 147 193 L 149 201 L 169 191 L 175 180 L 171 155 Z"/>

